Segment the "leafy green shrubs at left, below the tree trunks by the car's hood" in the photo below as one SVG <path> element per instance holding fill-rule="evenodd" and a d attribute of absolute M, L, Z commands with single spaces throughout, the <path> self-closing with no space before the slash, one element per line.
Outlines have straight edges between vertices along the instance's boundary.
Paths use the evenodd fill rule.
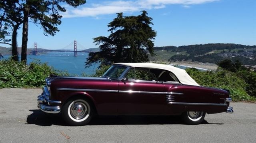
<path fill-rule="evenodd" d="M 50 74 L 65 76 L 66 72 L 54 70 L 47 63 L 34 60 L 29 65 L 13 60 L 0 60 L 0 88 L 40 87 Z"/>

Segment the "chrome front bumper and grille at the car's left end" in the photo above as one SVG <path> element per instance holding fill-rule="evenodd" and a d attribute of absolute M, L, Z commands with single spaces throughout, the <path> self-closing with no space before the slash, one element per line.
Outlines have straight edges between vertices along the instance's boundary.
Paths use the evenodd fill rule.
<path fill-rule="evenodd" d="M 61 103 L 61 101 L 49 100 L 50 93 L 46 86 L 43 88 L 43 93 L 37 98 L 37 107 L 46 113 L 60 113 L 60 106 L 51 106 L 50 103 Z"/>

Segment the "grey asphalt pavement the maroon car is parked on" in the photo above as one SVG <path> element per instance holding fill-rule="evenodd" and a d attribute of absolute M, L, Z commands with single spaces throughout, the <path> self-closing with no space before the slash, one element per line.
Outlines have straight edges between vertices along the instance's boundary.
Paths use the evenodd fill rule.
<path fill-rule="evenodd" d="M 37 109 L 41 91 L 0 89 L 0 143 L 256 143 L 254 103 L 231 103 L 233 114 L 206 115 L 200 125 L 184 125 L 178 117 L 107 116 L 70 127 Z"/>

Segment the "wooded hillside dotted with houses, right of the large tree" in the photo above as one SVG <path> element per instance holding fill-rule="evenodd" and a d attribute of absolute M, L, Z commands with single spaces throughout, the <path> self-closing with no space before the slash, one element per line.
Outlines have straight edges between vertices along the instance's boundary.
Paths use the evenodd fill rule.
<path fill-rule="evenodd" d="M 155 47 L 154 61 L 191 61 L 217 63 L 225 58 L 240 60 L 244 65 L 256 65 L 256 46 L 241 44 L 198 44 Z"/>

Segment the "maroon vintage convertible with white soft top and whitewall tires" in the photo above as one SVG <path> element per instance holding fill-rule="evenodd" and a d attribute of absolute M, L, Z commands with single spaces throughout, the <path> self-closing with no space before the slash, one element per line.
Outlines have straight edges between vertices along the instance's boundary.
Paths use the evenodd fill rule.
<path fill-rule="evenodd" d="M 38 108 L 69 125 L 98 115 L 181 115 L 199 124 L 206 113 L 233 113 L 226 89 L 202 87 L 185 70 L 164 64 L 116 63 L 101 77 L 46 78 Z"/>

